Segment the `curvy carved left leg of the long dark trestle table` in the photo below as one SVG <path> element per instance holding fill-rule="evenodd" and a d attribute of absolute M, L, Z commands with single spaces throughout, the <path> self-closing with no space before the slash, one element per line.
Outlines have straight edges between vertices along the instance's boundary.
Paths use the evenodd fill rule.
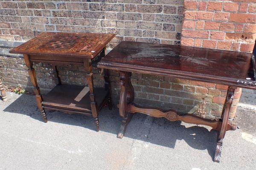
<path fill-rule="evenodd" d="M 117 138 L 122 138 L 124 136 L 126 127 L 133 116 L 129 110 L 129 104 L 134 101 L 134 88 L 131 84 L 131 72 L 120 71 L 120 88 L 119 114 L 122 117 L 122 123 Z"/>

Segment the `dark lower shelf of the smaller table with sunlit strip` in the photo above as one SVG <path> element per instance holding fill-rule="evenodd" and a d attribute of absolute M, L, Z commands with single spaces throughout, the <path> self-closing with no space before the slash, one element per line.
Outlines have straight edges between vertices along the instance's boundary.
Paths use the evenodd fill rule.
<path fill-rule="evenodd" d="M 94 88 L 96 102 L 100 110 L 105 104 L 108 91 Z M 43 96 L 42 105 L 46 109 L 69 111 L 70 113 L 92 113 L 89 87 L 79 85 L 56 85 Z"/>

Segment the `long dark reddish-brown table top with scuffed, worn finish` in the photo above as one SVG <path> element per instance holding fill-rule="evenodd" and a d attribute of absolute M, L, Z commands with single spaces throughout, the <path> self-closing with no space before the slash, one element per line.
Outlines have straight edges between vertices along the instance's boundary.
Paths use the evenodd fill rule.
<path fill-rule="evenodd" d="M 98 67 L 256 88 L 253 62 L 244 52 L 123 41 Z"/>

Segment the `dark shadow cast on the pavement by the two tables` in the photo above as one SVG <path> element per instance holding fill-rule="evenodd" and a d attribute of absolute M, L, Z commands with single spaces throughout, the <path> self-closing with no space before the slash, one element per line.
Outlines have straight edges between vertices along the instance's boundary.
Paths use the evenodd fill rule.
<path fill-rule="evenodd" d="M 20 95 L 19 98 L 7 106 L 3 111 L 27 115 L 43 122 L 34 96 L 26 94 Z M 58 111 L 47 111 L 46 113 L 49 122 L 81 126 L 90 130 L 95 130 L 93 119 L 88 116 L 76 114 L 69 115 Z M 117 108 L 113 108 L 112 111 L 109 111 L 107 107 L 104 107 L 102 111 L 99 112 L 100 130 L 104 132 L 116 135 L 121 120 Z M 195 149 L 207 149 L 209 155 L 212 156 L 213 159 L 217 133 L 214 130 L 209 131 L 205 127 L 185 127 L 180 121 L 169 122 L 164 118 L 153 118 L 137 113 L 129 123 L 125 137 L 171 148 L 175 148 L 177 140 L 184 140 L 190 147 Z"/>

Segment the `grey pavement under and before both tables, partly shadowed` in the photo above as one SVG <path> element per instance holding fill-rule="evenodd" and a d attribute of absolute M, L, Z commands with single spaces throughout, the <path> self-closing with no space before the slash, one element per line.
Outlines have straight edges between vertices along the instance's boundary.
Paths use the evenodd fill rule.
<path fill-rule="evenodd" d="M 44 123 L 34 96 L 8 93 L 0 101 L 0 170 L 253 170 L 256 113 L 238 108 L 239 129 L 228 131 L 221 162 L 213 162 L 216 131 L 183 122 L 134 115 L 117 139 L 118 110 L 93 119 L 48 111 Z"/>

